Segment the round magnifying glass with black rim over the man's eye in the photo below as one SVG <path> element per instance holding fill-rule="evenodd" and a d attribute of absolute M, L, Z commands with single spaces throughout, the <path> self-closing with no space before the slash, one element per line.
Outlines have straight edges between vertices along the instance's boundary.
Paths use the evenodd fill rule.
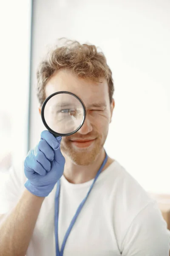
<path fill-rule="evenodd" d="M 74 93 L 59 91 L 48 96 L 42 104 L 42 122 L 54 136 L 76 133 L 85 122 L 86 110 Z"/>

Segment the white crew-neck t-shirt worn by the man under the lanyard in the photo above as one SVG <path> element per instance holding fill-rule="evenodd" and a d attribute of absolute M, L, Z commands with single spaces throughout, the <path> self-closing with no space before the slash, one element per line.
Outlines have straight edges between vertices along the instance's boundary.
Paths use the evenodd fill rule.
<path fill-rule="evenodd" d="M 25 182 L 23 164 L 10 169 L 10 178 L 0 193 L 0 214 L 8 214 L 15 207 Z M 72 184 L 61 178 L 59 249 L 92 182 Z M 56 188 L 42 203 L 27 256 L 56 256 Z M 63 256 L 169 256 L 169 244 L 170 232 L 156 202 L 115 160 L 96 180 L 68 236 Z"/>

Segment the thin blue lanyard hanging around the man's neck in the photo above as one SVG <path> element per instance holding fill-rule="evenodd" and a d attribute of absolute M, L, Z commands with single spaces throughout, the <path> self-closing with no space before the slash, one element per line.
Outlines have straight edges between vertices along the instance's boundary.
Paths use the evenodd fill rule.
<path fill-rule="evenodd" d="M 87 200 L 88 195 L 90 194 L 91 189 L 93 188 L 96 179 L 99 177 L 99 174 L 102 172 L 102 169 L 105 166 L 105 163 L 107 162 L 107 160 L 108 160 L 108 155 L 106 154 L 105 155 L 105 160 L 103 161 L 99 171 L 97 172 L 96 177 L 94 178 L 94 181 L 91 184 L 91 187 L 90 187 L 87 195 L 82 200 L 82 202 L 79 204 L 79 207 L 77 208 L 77 211 L 76 211 L 74 217 L 71 220 L 70 226 L 68 227 L 68 230 L 65 233 L 65 237 L 64 237 L 63 242 L 62 242 L 61 251 L 59 251 L 59 242 L 58 242 L 59 192 L 60 192 L 60 180 L 58 180 L 58 182 L 57 182 L 57 191 L 56 191 L 56 196 L 55 196 L 55 215 L 54 215 L 55 216 L 54 225 L 55 225 L 55 240 L 56 240 L 56 256 L 63 256 L 63 251 L 64 251 L 65 243 L 66 243 L 66 241 L 68 239 L 68 236 L 69 236 L 69 234 L 71 232 L 71 229 L 74 226 L 74 223 L 75 223 L 75 221 L 76 221 L 76 219 L 77 219 L 77 217 L 79 215 L 79 212 L 81 211 L 83 205 L 85 204 L 85 201 Z"/>

